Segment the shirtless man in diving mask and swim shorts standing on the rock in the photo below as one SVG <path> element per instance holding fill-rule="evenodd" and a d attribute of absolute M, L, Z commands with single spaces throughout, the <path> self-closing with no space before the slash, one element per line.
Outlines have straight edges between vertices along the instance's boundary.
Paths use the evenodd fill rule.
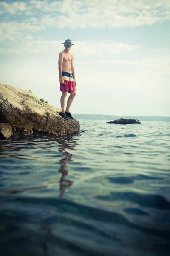
<path fill-rule="evenodd" d="M 68 120 L 69 118 L 74 119 L 69 111 L 71 103 L 76 96 L 76 79 L 73 66 L 74 57 L 70 53 L 70 49 L 73 44 L 70 39 L 65 40 L 62 44 L 64 44 L 65 49 L 59 54 L 59 81 L 60 90 L 62 91 L 60 100 L 62 111 L 59 114 L 64 119 Z M 67 96 L 67 92 L 70 93 L 70 96 L 68 97 L 67 107 L 65 109 L 65 98 Z"/>

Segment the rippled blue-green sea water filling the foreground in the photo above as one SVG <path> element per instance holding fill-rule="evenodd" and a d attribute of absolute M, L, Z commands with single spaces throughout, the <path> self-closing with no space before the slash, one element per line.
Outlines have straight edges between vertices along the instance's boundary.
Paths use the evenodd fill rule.
<path fill-rule="evenodd" d="M 0 141 L 0 256 L 170 252 L 170 122 Z"/>

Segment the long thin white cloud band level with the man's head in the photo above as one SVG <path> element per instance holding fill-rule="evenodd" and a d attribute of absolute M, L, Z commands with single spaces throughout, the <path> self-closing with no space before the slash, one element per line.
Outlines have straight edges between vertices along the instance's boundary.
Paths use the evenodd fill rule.
<path fill-rule="evenodd" d="M 12 35 L 10 35 L 12 36 Z M 18 37 L 20 34 L 18 34 Z M 72 47 L 75 57 L 100 56 L 100 55 L 120 55 L 123 52 L 134 52 L 139 49 L 139 45 L 117 43 L 113 41 L 75 41 L 76 47 Z M 26 35 L 18 47 L 3 49 L 0 51 L 5 54 L 21 56 L 55 56 L 63 50 L 60 41 L 37 40 L 36 37 Z"/>

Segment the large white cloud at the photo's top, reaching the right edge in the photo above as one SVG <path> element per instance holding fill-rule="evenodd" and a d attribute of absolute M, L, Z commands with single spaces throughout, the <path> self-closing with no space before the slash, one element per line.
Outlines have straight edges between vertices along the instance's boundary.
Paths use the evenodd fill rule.
<path fill-rule="evenodd" d="M 59 2 L 57 2 L 59 3 Z M 79 4 L 78 4 L 79 3 Z M 81 4 L 80 4 L 81 3 Z M 144 9 L 144 6 L 147 9 Z M 45 15 L 37 22 L 43 23 L 45 26 L 53 26 L 55 28 L 85 28 L 90 27 L 135 27 L 142 25 L 152 25 L 157 21 L 169 19 L 165 14 L 167 12 L 167 4 L 159 5 L 164 10 L 161 12 L 158 4 L 144 5 L 142 1 L 62 1 L 58 15 Z M 44 8 L 43 8 L 44 10 Z M 55 10 L 55 9 L 54 9 Z"/>

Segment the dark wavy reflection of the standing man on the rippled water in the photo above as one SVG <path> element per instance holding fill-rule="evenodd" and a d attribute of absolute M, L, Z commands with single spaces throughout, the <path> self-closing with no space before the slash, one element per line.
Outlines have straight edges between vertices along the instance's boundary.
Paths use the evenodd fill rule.
<path fill-rule="evenodd" d="M 59 151 L 62 151 L 62 150 L 59 150 Z M 63 151 L 62 151 L 63 152 Z M 60 189 L 60 197 L 62 197 L 62 195 L 64 194 L 65 192 L 65 189 L 70 187 L 72 184 L 73 184 L 73 181 L 71 180 L 66 180 L 65 179 L 65 176 L 68 175 L 68 171 L 65 169 L 66 168 L 66 163 L 68 162 L 71 162 L 71 157 L 73 156 L 72 154 L 69 154 L 68 152 L 64 151 L 65 155 L 67 155 L 67 157 L 59 160 L 60 164 L 61 164 L 61 168 L 59 169 L 59 172 L 62 173 L 62 176 L 59 180 L 59 183 L 60 183 L 60 186 L 59 186 L 59 189 Z"/>

